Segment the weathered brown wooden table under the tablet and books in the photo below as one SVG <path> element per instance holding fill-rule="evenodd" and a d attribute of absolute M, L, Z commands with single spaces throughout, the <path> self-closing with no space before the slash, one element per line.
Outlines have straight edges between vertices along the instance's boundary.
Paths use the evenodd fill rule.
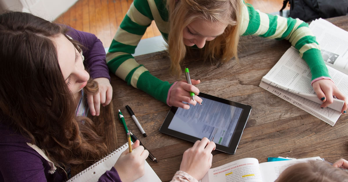
<path fill-rule="evenodd" d="M 328 19 L 348 31 L 348 16 Z M 261 78 L 275 65 L 290 47 L 286 40 L 276 41 L 256 36 L 242 37 L 239 62 L 205 62 L 193 52 L 182 64 L 190 68 L 192 79 L 200 79 L 200 92 L 244 103 L 253 107 L 235 155 L 213 151 L 212 167 L 237 159 L 254 157 L 260 163 L 267 157 L 306 158 L 320 156 L 335 162 L 348 159 L 348 116 L 342 115 L 334 127 L 310 115 L 259 87 Z M 178 80 L 168 75 L 169 59 L 165 52 L 156 52 L 135 58 L 152 75 L 173 83 Z M 184 75 L 181 79 L 184 79 Z M 179 170 L 183 152 L 193 143 L 159 132 L 170 107 L 150 95 L 127 86 L 126 82 L 112 75 L 113 108 L 116 118 L 117 145 L 127 141 L 117 112 L 123 112 L 128 129 L 158 159 L 149 162 L 162 181 L 170 181 Z M 130 118 L 125 106 L 132 107 L 148 137 L 142 137 Z"/>

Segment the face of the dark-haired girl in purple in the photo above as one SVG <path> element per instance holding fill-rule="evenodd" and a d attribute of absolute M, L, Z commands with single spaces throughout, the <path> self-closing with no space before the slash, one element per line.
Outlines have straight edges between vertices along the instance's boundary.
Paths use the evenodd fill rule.
<path fill-rule="evenodd" d="M 82 63 L 82 57 L 75 46 L 63 34 L 52 38 L 56 43 L 58 62 L 65 83 L 68 84 L 74 98 L 79 98 L 80 90 L 84 88 L 89 74 Z"/>

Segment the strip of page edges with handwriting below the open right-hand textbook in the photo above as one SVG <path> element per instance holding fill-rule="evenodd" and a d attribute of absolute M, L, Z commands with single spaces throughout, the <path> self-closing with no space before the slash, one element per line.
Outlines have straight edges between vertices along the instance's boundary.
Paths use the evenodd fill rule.
<path fill-rule="evenodd" d="M 341 111 L 333 110 L 330 107 L 322 109 L 321 104 L 303 98 L 299 95 L 296 95 L 295 93 L 269 85 L 263 81 L 261 81 L 259 86 L 261 88 L 264 88 L 265 90 L 268 90 L 270 93 L 284 99 L 285 101 L 301 108 L 309 114 L 314 115 L 315 117 L 321 119 L 327 124 L 330 124 L 331 126 L 333 126 L 341 116 Z"/>

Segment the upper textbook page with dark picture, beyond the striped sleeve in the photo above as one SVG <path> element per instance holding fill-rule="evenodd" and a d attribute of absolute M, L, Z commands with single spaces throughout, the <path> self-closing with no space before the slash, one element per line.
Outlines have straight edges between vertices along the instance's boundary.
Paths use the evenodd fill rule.
<path fill-rule="evenodd" d="M 309 28 L 321 47 L 325 64 L 348 75 L 348 32 L 321 18 L 312 21 Z"/>

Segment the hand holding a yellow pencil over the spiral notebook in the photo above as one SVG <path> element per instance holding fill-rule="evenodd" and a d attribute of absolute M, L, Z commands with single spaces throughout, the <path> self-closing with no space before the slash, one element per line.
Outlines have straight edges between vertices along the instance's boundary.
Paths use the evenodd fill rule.
<path fill-rule="evenodd" d="M 139 140 L 134 142 L 131 153 L 128 149 L 122 152 L 113 166 L 123 182 L 134 181 L 145 174 L 145 159 L 149 156 L 149 151 L 144 150 L 139 143 Z"/>

